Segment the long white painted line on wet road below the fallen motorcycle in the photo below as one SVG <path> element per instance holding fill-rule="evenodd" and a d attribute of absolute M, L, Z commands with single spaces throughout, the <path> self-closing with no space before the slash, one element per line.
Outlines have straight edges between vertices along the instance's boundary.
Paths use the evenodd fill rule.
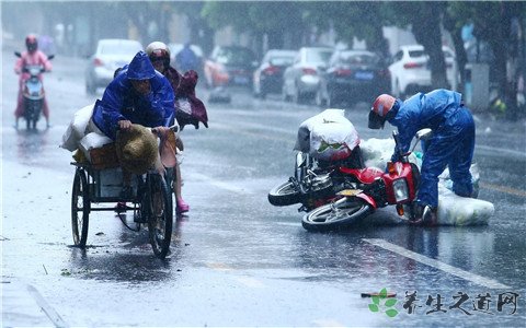
<path fill-rule="evenodd" d="M 457 276 L 461 279 L 471 281 L 476 284 L 480 284 L 490 289 L 495 289 L 495 290 L 510 290 L 511 288 L 508 285 L 502 284 L 499 281 L 488 279 L 474 273 L 471 273 L 469 271 L 465 271 L 462 269 L 455 268 L 453 266 L 446 265 L 444 262 L 441 262 L 438 260 L 428 258 L 426 256 L 423 256 L 421 254 L 411 251 L 409 249 L 405 249 L 403 247 L 400 247 L 398 245 L 391 244 L 387 241 L 384 239 L 368 239 L 368 238 L 363 238 L 364 242 L 367 242 L 371 245 L 381 247 L 384 249 L 390 250 L 392 253 L 399 254 L 401 256 L 404 256 L 407 258 L 413 259 L 415 261 L 419 261 L 421 263 L 424 263 L 426 266 L 433 267 L 435 269 L 445 271 L 449 274 Z"/>

